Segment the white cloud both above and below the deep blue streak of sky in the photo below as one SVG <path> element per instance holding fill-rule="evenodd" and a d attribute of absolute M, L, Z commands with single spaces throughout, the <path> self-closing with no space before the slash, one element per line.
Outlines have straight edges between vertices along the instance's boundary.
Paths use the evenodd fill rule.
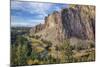
<path fill-rule="evenodd" d="M 11 9 L 12 10 L 23 10 L 27 11 L 31 14 L 37 13 L 36 17 L 43 18 L 47 16 L 47 10 L 51 8 L 51 4 L 44 4 L 44 3 L 36 3 L 36 2 L 18 2 L 18 1 L 11 1 Z M 11 15 L 11 25 L 12 26 L 26 26 L 26 25 L 37 25 L 39 23 L 44 23 L 44 19 L 32 19 L 23 21 L 24 18 L 18 18 L 18 16 Z"/>

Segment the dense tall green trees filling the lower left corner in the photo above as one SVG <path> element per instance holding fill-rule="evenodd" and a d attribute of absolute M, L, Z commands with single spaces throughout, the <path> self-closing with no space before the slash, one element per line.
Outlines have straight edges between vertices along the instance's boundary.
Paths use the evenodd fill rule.
<path fill-rule="evenodd" d="M 11 45 L 11 64 L 12 65 L 25 65 L 28 48 L 28 41 L 24 37 L 18 36 L 15 44 Z"/>

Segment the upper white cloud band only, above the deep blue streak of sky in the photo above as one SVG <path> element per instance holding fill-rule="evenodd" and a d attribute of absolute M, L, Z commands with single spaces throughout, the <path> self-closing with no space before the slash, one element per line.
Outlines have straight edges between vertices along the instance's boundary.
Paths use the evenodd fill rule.
<path fill-rule="evenodd" d="M 47 16 L 47 10 L 52 7 L 52 4 L 49 3 L 36 3 L 36 2 L 18 2 L 11 1 L 11 9 L 23 10 L 30 13 L 39 13 L 44 16 Z"/>

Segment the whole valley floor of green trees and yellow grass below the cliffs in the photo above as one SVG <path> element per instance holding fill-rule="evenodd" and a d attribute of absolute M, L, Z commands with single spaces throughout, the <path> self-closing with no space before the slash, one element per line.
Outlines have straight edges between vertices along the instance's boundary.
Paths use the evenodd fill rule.
<path fill-rule="evenodd" d="M 40 36 L 20 33 L 21 31 L 15 29 L 11 32 L 11 65 L 95 61 L 95 46 L 92 41 L 88 43 L 88 48 L 83 48 L 81 42 L 78 46 L 71 46 L 69 40 L 54 46 L 52 42 L 41 39 Z"/>

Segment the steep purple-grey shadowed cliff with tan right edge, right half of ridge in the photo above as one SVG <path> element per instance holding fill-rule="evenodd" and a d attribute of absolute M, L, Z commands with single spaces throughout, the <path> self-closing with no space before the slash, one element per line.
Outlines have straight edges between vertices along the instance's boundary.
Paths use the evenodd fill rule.
<path fill-rule="evenodd" d="M 94 40 L 95 7 L 75 6 L 63 9 L 61 13 L 65 36 Z"/>

